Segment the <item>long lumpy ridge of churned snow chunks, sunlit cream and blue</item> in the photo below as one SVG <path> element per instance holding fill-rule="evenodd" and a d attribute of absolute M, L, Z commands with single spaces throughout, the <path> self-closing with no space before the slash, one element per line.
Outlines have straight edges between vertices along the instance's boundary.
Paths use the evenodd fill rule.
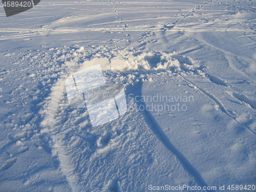
<path fill-rule="evenodd" d="M 42 54 L 45 53 L 45 54 Z M 83 68 L 94 65 L 101 65 L 103 71 L 162 71 L 169 70 L 172 72 L 194 72 L 202 71 L 198 62 L 191 58 L 183 57 L 173 53 L 163 51 L 142 52 L 135 49 L 127 49 L 116 46 L 99 46 L 99 47 L 63 47 L 51 48 L 47 52 L 34 53 L 32 58 L 45 60 L 43 57 L 52 57 L 52 62 L 59 68 L 72 67 L 81 65 Z M 30 53 L 31 56 L 33 53 Z M 26 56 L 25 56 L 26 57 Z M 35 62 L 34 59 L 31 61 Z M 76 67 L 75 67 L 76 68 Z M 82 69 L 82 68 L 81 68 Z"/>

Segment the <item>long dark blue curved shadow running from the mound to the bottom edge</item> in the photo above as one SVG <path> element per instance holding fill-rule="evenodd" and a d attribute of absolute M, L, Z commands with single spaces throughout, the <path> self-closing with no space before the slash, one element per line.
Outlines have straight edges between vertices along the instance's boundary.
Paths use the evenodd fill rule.
<path fill-rule="evenodd" d="M 139 96 L 142 96 L 142 84 L 143 83 L 140 84 L 140 88 L 139 88 L 140 95 Z M 138 104 L 138 106 L 143 104 L 144 109 L 146 109 L 145 102 L 139 101 L 139 102 L 137 102 L 137 104 Z M 154 116 L 152 115 L 152 113 L 147 110 L 143 110 L 143 111 L 141 111 L 141 113 L 144 115 L 145 121 L 147 122 L 148 126 L 150 126 L 152 132 L 163 143 L 163 145 L 167 148 L 167 150 L 169 150 L 172 154 L 174 154 L 177 157 L 177 159 L 181 163 L 182 167 L 186 170 L 186 172 L 190 176 L 192 176 L 202 188 L 204 186 L 206 186 L 206 188 L 207 188 L 208 185 L 202 178 L 201 174 L 198 172 L 198 170 L 193 165 L 191 165 L 191 163 L 186 159 L 186 157 L 179 150 L 177 150 L 177 148 L 172 144 L 172 142 L 170 142 L 169 138 L 165 135 L 165 133 L 161 129 L 160 125 L 155 120 Z M 206 190 L 206 191 L 214 192 L 214 190 Z"/>

